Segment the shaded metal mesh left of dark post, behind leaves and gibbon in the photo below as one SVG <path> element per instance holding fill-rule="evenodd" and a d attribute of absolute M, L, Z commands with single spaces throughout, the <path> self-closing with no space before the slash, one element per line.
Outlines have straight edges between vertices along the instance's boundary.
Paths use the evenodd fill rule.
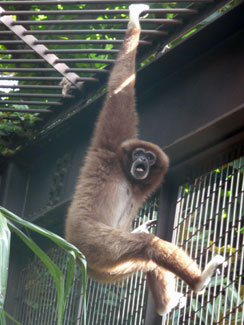
<path fill-rule="evenodd" d="M 150 200 L 139 212 L 133 229 L 140 224 L 157 219 L 158 198 Z M 153 232 L 155 228 L 152 228 Z M 51 248 L 50 257 L 65 271 L 66 255 Z M 34 258 L 22 270 L 17 290 L 15 315 L 24 325 L 57 324 L 56 289 L 48 270 Z M 87 281 L 87 324 L 144 324 L 146 281 L 137 273 L 117 284 L 99 284 Z M 77 268 L 66 306 L 64 324 L 83 324 L 81 274 Z"/>

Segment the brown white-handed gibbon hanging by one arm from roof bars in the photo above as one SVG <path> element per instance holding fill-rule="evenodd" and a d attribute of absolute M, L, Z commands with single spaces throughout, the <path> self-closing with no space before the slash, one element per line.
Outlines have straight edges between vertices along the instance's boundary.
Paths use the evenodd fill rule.
<path fill-rule="evenodd" d="M 130 6 L 128 29 L 68 211 L 66 239 L 85 255 L 88 274 L 98 281 L 114 282 L 136 271 L 146 273 L 156 310 L 162 315 L 182 305 L 182 294 L 175 292 L 175 276 L 201 292 L 224 259 L 215 256 L 201 272 L 174 244 L 153 234 L 128 232 L 169 164 L 157 145 L 137 139 L 135 58 L 139 15 L 147 9 L 145 5 Z"/>

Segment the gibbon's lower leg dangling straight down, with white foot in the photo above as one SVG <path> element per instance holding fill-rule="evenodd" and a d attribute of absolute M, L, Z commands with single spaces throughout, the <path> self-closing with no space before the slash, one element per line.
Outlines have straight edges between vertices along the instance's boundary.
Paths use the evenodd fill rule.
<path fill-rule="evenodd" d="M 175 275 L 162 267 L 147 273 L 147 283 L 159 315 L 167 314 L 174 307 L 183 308 L 186 297 L 175 291 Z"/>

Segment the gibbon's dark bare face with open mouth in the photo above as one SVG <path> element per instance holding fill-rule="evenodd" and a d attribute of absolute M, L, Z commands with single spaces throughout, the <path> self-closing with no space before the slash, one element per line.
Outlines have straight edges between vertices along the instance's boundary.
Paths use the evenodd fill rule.
<path fill-rule="evenodd" d="M 148 176 L 150 168 L 156 163 L 157 157 L 152 151 L 136 148 L 132 151 L 131 159 L 131 176 L 136 180 L 143 180 Z"/>

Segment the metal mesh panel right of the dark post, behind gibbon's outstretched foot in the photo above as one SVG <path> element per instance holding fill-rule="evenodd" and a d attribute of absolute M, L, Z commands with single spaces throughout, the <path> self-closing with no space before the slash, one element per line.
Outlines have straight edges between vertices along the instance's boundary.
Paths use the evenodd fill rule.
<path fill-rule="evenodd" d="M 187 296 L 184 309 L 174 310 L 162 324 L 244 324 L 244 158 L 197 178 L 179 189 L 173 242 L 202 268 L 221 254 L 228 266 L 212 278 L 203 295 Z"/>

